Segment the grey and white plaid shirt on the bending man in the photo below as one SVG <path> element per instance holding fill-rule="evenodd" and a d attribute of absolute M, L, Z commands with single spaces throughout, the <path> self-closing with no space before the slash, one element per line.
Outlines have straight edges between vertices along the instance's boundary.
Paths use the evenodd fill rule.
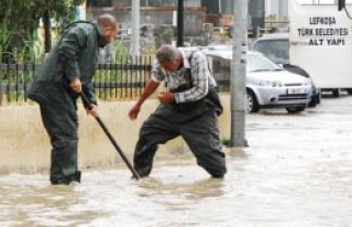
<path fill-rule="evenodd" d="M 209 88 L 217 86 L 209 72 L 207 56 L 199 51 L 179 51 L 183 55 L 184 67 L 172 73 L 162 68 L 156 62 L 153 65 L 152 79 L 156 83 L 165 80 L 169 90 L 189 84 L 191 80 L 193 87 L 188 90 L 176 93 L 175 100 L 177 104 L 199 100 L 208 94 Z"/>

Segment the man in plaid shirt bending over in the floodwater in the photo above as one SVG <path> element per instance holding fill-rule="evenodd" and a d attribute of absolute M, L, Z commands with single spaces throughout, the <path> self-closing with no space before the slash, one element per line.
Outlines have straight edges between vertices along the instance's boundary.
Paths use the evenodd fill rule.
<path fill-rule="evenodd" d="M 143 102 L 163 80 L 168 91 L 157 94 L 161 105 L 140 130 L 133 156 L 135 170 L 140 176 L 147 176 L 157 145 L 182 136 L 198 165 L 212 177 L 223 177 L 227 167 L 218 127 L 222 106 L 206 55 L 199 51 L 161 46 L 151 80 L 129 112 L 132 120 L 136 119 Z"/>

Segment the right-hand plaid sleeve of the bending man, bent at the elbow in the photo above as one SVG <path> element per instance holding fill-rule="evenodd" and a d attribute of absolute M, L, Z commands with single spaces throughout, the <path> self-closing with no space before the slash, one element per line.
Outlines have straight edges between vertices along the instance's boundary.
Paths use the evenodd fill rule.
<path fill-rule="evenodd" d="M 200 52 L 191 54 L 190 74 L 193 87 L 183 93 L 177 93 L 176 102 L 196 101 L 208 94 L 209 69 L 206 55 Z"/>

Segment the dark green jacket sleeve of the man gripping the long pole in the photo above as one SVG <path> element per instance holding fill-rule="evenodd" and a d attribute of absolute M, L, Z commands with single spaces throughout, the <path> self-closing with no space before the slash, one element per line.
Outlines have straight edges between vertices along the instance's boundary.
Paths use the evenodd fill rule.
<path fill-rule="evenodd" d="M 80 77 L 78 58 L 85 47 L 87 47 L 87 35 L 82 29 L 69 28 L 63 34 L 57 46 L 58 61 L 62 63 L 64 76 L 68 80 Z"/>

